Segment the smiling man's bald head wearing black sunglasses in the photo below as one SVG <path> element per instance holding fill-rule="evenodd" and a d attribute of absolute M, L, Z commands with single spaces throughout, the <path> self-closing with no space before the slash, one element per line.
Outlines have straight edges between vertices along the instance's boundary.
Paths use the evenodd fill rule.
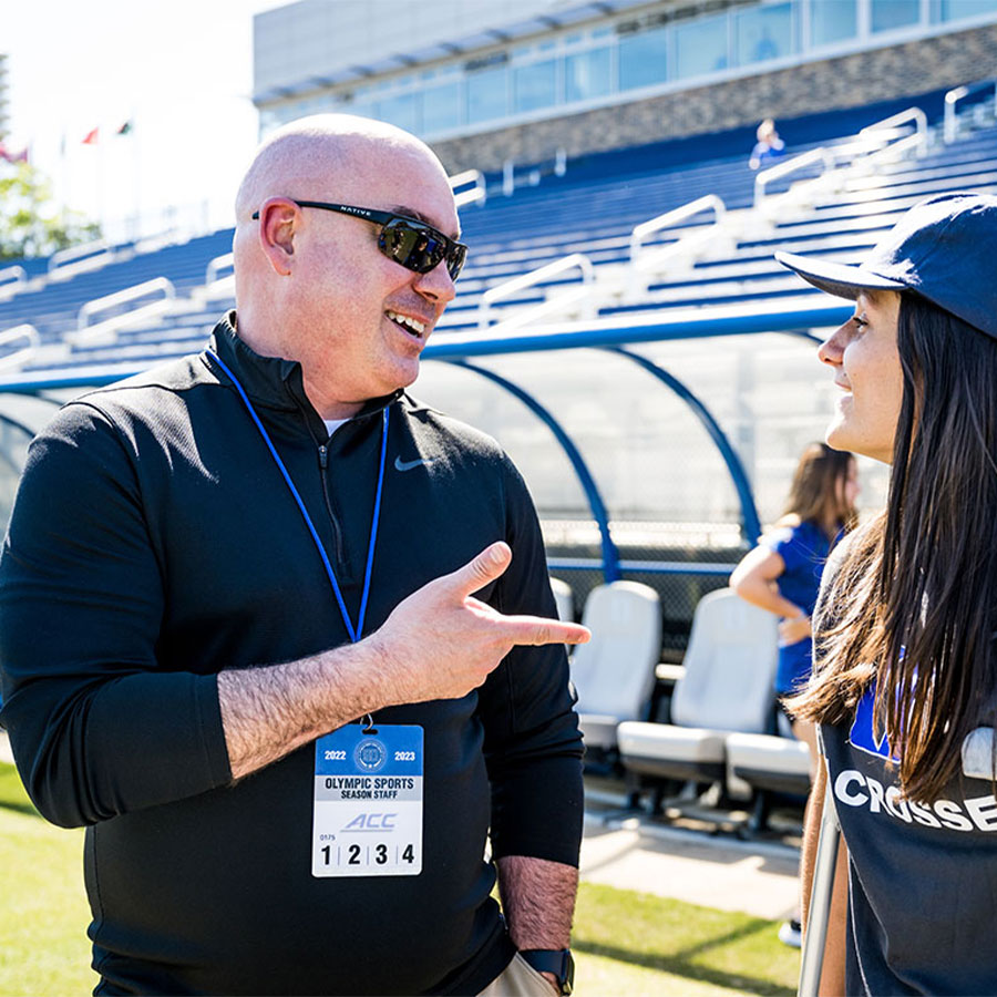
<path fill-rule="evenodd" d="M 366 212 L 415 218 L 451 238 L 460 232 L 450 181 L 429 146 L 347 114 L 302 117 L 274 132 L 236 198 L 239 337 L 264 356 L 300 362 L 323 418 L 352 414 L 412 383 L 455 292 L 443 261 L 419 271 L 386 253 L 383 226 Z"/>

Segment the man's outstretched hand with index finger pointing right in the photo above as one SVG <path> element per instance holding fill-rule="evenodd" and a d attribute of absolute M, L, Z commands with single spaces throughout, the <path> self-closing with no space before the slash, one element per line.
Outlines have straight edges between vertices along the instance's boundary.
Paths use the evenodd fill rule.
<path fill-rule="evenodd" d="M 512 561 L 501 541 L 463 567 L 413 592 L 364 644 L 380 659 L 384 706 L 459 699 L 516 645 L 585 644 L 586 627 L 539 616 L 503 616 L 474 598 Z"/>

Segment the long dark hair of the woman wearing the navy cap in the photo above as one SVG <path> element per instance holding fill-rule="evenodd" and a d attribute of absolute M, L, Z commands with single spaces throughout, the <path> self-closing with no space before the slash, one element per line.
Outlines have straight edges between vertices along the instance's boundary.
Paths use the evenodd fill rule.
<path fill-rule="evenodd" d="M 901 790 L 933 802 L 997 692 L 997 341 L 904 292 L 897 350 L 886 508 L 822 599 L 814 676 L 789 708 L 842 722 L 875 681 Z"/>

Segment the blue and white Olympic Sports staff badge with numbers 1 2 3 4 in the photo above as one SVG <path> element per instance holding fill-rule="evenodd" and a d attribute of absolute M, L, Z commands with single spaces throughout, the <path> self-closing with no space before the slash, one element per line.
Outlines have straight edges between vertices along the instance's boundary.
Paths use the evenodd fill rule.
<path fill-rule="evenodd" d="M 314 876 L 422 872 L 422 728 L 351 723 L 315 742 Z"/>

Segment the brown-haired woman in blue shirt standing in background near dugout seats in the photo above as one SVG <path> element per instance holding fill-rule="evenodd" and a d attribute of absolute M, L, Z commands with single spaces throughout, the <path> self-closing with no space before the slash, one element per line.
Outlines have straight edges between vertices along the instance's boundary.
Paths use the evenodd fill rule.
<path fill-rule="evenodd" d="M 810 749 L 811 781 L 816 774 L 814 726 L 789 711 L 784 698 L 810 679 L 811 614 L 828 554 L 856 522 L 859 469 L 851 453 L 811 443 L 796 465 L 782 518 L 730 576 L 747 602 L 780 617 L 775 695 L 793 736 Z M 796 912 L 779 931 L 787 945 L 800 945 Z"/>

